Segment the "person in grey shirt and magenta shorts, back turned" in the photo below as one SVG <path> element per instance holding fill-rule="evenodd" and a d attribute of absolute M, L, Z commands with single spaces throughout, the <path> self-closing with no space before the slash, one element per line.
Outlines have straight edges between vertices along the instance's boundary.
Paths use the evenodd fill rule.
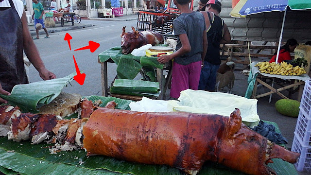
<path fill-rule="evenodd" d="M 161 64 L 173 60 L 171 98 L 178 98 L 186 89 L 197 90 L 201 68 L 207 51 L 205 18 L 189 8 L 190 0 L 173 0 L 181 15 L 173 20 L 174 35 L 178 36 L 176 52 L 160 56 Z"/>

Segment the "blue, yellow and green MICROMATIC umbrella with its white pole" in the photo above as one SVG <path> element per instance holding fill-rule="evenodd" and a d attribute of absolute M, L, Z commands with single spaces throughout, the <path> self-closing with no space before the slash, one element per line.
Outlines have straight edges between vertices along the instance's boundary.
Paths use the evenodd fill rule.
<path fill-rule="evenodd" d="M 247 15 L 258 14 L 263 12 L 284 11 L 283 23 L 281 28 L 281 35 L 279 41 L 282 40 L 282 34 L 285 23 L 285 16 L 287 7 L 292 10 L 306 10 L 311 9 L 311 0 L 240 0 L 240 2 L 231 11 L 231 17 L 242 18 Z M 237 12 L 239 12 L 237 14 Z M 278 53 L 280 45 L 277 49 L 276 63 L 278 60 Z"/>

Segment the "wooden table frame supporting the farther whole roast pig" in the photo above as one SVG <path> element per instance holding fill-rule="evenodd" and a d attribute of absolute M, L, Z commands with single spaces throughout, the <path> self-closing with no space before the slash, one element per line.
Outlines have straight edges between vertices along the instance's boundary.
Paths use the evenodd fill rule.
<path fill-rule="evenodd" d="M 117 48 L 117 49 L 114 50 L 115 48 Z M 118 61 L 121 58 L 121 56 L 125 56 L 125 55 L 122 55 L 121 53 L 119 53 L 120 49 L 118 50 L 118 47 L 115 47 L 115 48 L 110 48 L 109 50 L 104 51 L 103 53 L 100 53 L 98 55 L 98 63 L 101 64 L 102 92 L 103 92 L 103 96 L 105 96 L 105 97 L 108 96 L 107 63 L 118 64 Z M 114 52 L 114 53 L 112 53 L 112 52 Z M 137 56 L 134 56 L 131 54 L 129 54 L 127 56 L 137 57 Z M 143 56 L 143 57 L 144 58 L 150 58 L 150 57 L 145 57 L 145 56 Z M 156 61 L 156 58 L 153 58 L 153 60 Z M 172 78 L 172 71 L 171 71 L 172 66 L 171 65 L 172 65 L 171 62 L 168 62 L 164 65 L 157 62 L 157 66 L 155 66 L 156 67 L 156 81 L 159 82 L 160 91 L 161 91 L 161 93 L 158 97 L 159 100 L 164 100 L 166 89 L 168 88 L 168 86 L 170 84 L 170 80 Z M 165 78 L 165 82 L 162 81 L 164 70 L 169 70 L 168 75 Z M 117 76 L 116 76 L 116 78 L 117 78 Z M 118 97 L 120 98 L 120 96 L 118 96 Z"/>

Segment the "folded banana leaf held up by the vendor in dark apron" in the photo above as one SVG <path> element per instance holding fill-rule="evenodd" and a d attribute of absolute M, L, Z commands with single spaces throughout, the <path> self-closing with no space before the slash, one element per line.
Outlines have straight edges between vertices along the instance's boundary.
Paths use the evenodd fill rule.
<path fill-rule="evenodd" d="M 16 85 L 10 96 L 0 94 L 0 97 L 19 106 L 23 112 L 37 113 L 36 108 L 51 103 L 75 75 L 74 72 L 64 78 Z"/>

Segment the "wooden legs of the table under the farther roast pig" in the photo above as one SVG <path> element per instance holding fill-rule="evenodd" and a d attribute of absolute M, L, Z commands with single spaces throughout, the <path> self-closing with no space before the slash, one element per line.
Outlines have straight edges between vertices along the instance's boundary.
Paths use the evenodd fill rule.
<path fill-rule="evenodd" d="M 100 58 L 98 57 L 98 63 L 101 64 L 101 76 L 102 76 L 102 92 L 103 96 L 108 96 L 108 74 L 107 74 L 107 63 L 114 63 L 113 60 L 110 58 L 107 61 L 101 62 Z M 172 62 L 166 63 L 163 69 L 156 68 L 156 81 L 160 84 L 161 93 L 158 97 L 159 100 L 165 100 L 165 92 L 168 88 L 171 79 L 172 79 Z M 169 70 L 167 77 L 165 78 L 165 82 L 163 82 L 163 71 Z"/>

